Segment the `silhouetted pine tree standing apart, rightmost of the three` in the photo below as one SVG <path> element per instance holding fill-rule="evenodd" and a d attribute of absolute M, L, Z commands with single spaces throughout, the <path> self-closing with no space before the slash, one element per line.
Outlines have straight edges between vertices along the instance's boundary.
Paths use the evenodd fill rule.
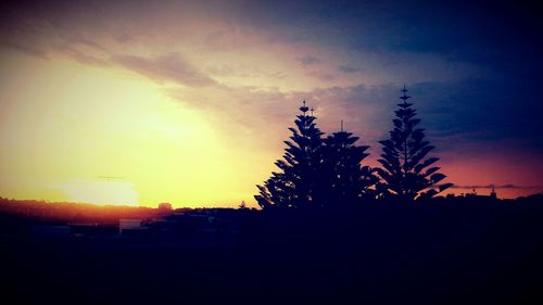
<path fill-rule="evenodd" d="M 390 140 L 379 141 L 382 144 L 382 154 L 379 163 L 383 168 L 378 168 L 377 173 L 384 180 L 382 185 L 383 195 L 394 196 L 404 201 L 413 201 L 417 195 L 420 198 L 431 198 L 437 193 L 450 188 L 452 183 L 438 187 L 438 190 L 430 189 L 437 186 L 446 176 L 437 173 L 440 167 L 428 166 L 434 164 L 439 158 L 426 158 L 428 153 L 434 149 L 428 141 L 425 141 L 422 128 L 415 128 L 420 119 L 415 118 L 416 111 L 408 103 L 405 92 L 400 99 L 402 103 L 397 104 L 395 111 L 396 118 L 393 119 L 394 129 L 390 131 Z"/>

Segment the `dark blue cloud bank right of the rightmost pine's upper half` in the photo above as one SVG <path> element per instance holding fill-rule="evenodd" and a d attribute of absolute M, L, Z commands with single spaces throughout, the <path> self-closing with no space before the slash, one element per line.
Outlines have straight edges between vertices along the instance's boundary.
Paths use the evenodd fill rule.
<path fill-rule="evenodd" d="M 533 98 L 539 93 L 530 81 L 421 82 L 411 86 L 409 93 L 424 114 L 425 126 L 435 135 L 457 136 L 481 145 L 512 139 L 541 153 L 543 104 Z"/>

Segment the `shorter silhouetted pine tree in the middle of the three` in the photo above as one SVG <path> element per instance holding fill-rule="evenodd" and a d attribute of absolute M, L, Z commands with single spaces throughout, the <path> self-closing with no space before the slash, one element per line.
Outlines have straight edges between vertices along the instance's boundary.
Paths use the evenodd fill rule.
<path fill-rule="evenodd" d="M 354 204 L 363 199 L 369 199 L 378 178 L 369 166 L 362 166 L 362 161 L 368 156 L 369 147 L 356 145 L 358 137 L 343 131 L 333 132 L 325 139 L 324 177 L 329 178 L 329 190 L 325 196 L 326 206 L 344 206 Z"/>

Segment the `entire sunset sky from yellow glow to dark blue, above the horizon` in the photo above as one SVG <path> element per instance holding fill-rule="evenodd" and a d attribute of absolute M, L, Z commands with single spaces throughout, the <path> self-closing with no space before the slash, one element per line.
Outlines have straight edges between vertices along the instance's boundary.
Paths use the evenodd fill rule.
<path fill-rule="evenodd" d="M 302 100 L 370 145 L 406 84 L 450 192 L 543 191 L 541 4 L 9 1 L 0 195 L 254 206 Z"/>

